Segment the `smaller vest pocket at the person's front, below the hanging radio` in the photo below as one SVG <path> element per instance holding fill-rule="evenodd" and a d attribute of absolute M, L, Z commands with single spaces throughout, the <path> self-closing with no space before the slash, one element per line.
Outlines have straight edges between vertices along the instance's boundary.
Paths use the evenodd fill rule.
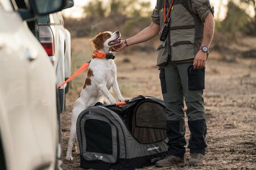
<path fill-rule="evenodd" d="M 158 51 L 158 60 L 156 65 L 162 67 L 168 62 L 168 48 L 166 48 L 166 41 L 160 42 L 160 45 L 157 49 Z"/>

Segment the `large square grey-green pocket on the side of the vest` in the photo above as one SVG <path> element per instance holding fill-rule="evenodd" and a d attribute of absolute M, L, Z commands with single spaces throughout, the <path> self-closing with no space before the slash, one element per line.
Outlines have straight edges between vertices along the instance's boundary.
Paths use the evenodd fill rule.
<path fill-rule="evenodd" d="M 183 61 L 195 57 L 195 36 L 175 36 L 171 38 L 172 61 Z"/>

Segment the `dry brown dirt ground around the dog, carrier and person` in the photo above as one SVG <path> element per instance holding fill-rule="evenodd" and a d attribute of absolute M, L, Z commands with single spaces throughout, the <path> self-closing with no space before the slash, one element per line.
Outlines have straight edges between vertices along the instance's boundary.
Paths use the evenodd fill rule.
<path fill-rule="evenodd" d="M 73 71 L 90 59 L 92 48 L 85 38 L 72 41 Z M 118 83 L 125 97 L 142 94 L 162 98 L 159 71 L 155 67 L 156 52 L 117 53 Z M 66 111 L 61 115 L 63 157 L 67 151 L 73 102 L 84 85 L 86 73 L 72 81 L 67 94 Z M 256 59 L 221 60 L 213 52 L 207 64 L 204 92 L 207 114 L 206 164 L 201 167 L 144 169 L 256 169 Z M 189 138 L 187 127 L 186 139 Z M 189 159 L 189 151 L 185 155 Z M 79 168 L 80 157 L 73 152 L 73 161 L 64 160 L 64 169 Z"/>

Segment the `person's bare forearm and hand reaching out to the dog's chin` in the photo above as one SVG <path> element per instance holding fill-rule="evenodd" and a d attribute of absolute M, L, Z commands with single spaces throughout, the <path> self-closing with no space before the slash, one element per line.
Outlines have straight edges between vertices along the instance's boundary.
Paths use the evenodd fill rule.
<path fill-rule="evenodd" d="M 158 35 L 160 32 L 160 26 L 154 22 L 150 24 L 147 28 L 144 28 L 141 32 L 138 34 L 132 36 L 131 38 L 122 40 L 122 43 L 120 45 L 117 45 L 115 47 L 112 47 L 112 51 L 118 52 L 121 51 L 123 48 L 127 47 L 127 45 L 134 45 L 139 44 L 143 42 L 147 42 L 148 40 L 154 38 L 156 35 Z"/>

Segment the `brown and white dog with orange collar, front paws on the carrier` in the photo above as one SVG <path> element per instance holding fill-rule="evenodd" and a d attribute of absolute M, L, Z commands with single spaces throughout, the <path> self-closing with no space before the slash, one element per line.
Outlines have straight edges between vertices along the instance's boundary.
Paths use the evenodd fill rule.
<path fill-rule="evenodd" d="M 115 103 L 115 98 L 110 94 L 109 89 L 112 87 L 119 101 L 126 101 L 120 93 L 117 84 L 117 67 L 113 59 L 106 59 L 110 48 L 120 44 L 120 32 L 102 32 L 92 39 L 95 48 L 92 60 L 90 61 L 84 88 L 80 97 L 75 101 L 72 110 L 71 131 L 67 149 L 67 160 L 73 160 L 72 147 L 76 137 L 76 121 L 81 111 L 97 102 L 107 98 L 110 103 Z M 76 148 L 76 151 L 79 152 Z"/>

